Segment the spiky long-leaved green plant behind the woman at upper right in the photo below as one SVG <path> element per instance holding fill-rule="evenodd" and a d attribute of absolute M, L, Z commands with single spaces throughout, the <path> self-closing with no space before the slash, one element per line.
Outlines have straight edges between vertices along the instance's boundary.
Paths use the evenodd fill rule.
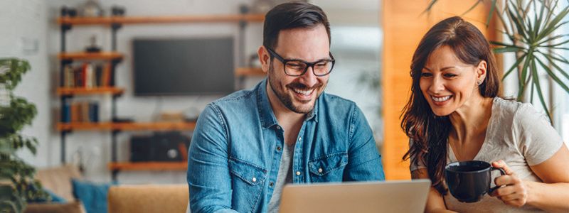
<path fill-rule="evenodd" d="M 431 0 L 425 11 L 430 11 L 437 1 Z M 493 17 L 498 18 L 501 28 L 497 30 L 507 38 L 503 42 L 490 41 L 495 45 L 494 53 L 515 53 L 516 60 L 504 72 L 502 80 L 516 71 L 517 100 L 533 103 L 533 94 L 537 94 L 543 109 L 551 118 L 551 108 L 546 104 L 540 81 L 543 76 L 538 74 L 545 72 L 546 78 L 551 78 L 569 93 L 568 85 L 563 82 L 569 80 L 569 74 L 561 68 L 562 64 L 569 65 L 569 60 L 557 53 L 569 50 L 566 45 L 569 35 L 558 31 L 568 23 L 563 20 L 569 13 L 569 7 L 560 8 L 558 0 L 478 0 L 468 11 L 481 3 L 491 5 L 486 26 Z"/>

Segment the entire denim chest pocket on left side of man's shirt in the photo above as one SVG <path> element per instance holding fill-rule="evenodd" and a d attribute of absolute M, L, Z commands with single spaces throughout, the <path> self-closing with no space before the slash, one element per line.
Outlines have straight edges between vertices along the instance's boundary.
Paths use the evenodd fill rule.
<path fill-rule="evenodd" d="M 238 158 L 229 158 L 229 172 L 233 176 L 233 209 L 238 212 L 257 212 L 260 196 L 267 179 L 267 170 L 260 165 Z"/>

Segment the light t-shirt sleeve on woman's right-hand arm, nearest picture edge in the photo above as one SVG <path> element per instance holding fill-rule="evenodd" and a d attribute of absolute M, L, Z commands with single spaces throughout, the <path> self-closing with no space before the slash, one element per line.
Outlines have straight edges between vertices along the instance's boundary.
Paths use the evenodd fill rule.
<path fill-rule="evenodd" d="M 519 151 L 528 165 L 543 163 L 563 146 L 563 139 L 553 129 L 548 117 L 531 104 L 522 104 L 516 111 L 514 131 Z"/>

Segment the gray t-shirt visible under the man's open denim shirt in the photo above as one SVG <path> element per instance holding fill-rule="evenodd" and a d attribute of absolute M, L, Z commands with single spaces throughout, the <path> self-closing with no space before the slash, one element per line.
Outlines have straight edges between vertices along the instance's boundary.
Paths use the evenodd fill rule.
<path fill-rule="evenodd" d="M 269 213 L 279 212 L 280 195 L 282 195 L 282 188 L 287 183 L 292 182 L 292 157 L 294 155 L 294 144 L 286 145 L 282 149 L 282 156 L 280 158 L 279 173 L 277 175 L 277 182 L 275 183 L 275 190 L 272 191 L 272 197 L 269 202 Z"/>

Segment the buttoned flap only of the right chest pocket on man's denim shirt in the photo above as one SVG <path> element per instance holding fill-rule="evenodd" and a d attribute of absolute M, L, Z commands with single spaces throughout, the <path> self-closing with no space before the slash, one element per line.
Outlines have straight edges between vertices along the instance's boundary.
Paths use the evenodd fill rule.
<path fill-rule="evenodd" d="M 348 153 L 333 153 L 314 158 L 308 162 L 310 173 L 317 176 L 328 175 L 348 164 Z"/>

